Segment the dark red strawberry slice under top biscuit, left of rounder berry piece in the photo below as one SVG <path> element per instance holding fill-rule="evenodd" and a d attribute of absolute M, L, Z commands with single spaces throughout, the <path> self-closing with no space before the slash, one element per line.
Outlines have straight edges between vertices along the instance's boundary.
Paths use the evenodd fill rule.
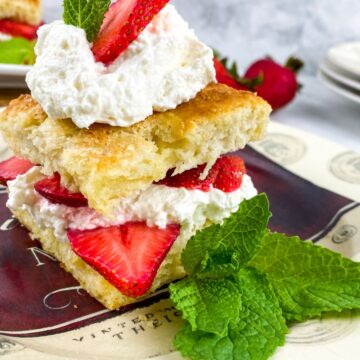
<path fill-rule="evenodd" d="M 211 185 L 214 183 L 217 176 L 217 168 L 213 167 L 206 179 L 200 180 L 206 165 L 200 165 L 197 168 L 184 171 L 181 174 L 171 176 L 173 170 L 170 170 L 165 179 L 159 181 L 157 184 L 166 185 L 169 187 L 184 187 L 188 190 L 201 190 L 204 192 L 210 191 Z"/>

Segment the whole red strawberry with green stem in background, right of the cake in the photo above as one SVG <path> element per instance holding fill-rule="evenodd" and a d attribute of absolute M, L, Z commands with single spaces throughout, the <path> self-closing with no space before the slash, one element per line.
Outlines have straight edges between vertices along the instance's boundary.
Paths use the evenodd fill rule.
<path fill-rule="evenodd" d="M 263 59 L 250 66 L 245 78 L 263 78 L 262 83 L 255 86 L 254 90 L 276 110 L 294 99 L 299 89 L 296 73 L 303 65 L 300 60 L 294 58 L 290 58 L 285 66 L 271 59 Z"/>

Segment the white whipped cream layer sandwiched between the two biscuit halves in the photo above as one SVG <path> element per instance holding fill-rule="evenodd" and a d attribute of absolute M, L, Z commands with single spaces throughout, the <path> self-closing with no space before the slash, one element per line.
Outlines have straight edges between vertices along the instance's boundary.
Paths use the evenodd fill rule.
<path fill-rule="evenodd" d="M 41 167 L 34 167 L 26 174 L 9 181 L 7 206 L 12 211 L 29 211 L 41 227 L 52 227 L 55 236 L 67 241 L 67 229 L 94 229 L 121 225 L 128 221 L 146 221 L 148 226 L 165 228 L 169 223 L 182 226 L 182 235 L 188 239 L 208 222 L 222 223 L 235 212 L 244 199 L 250 199 L 257 191 L 248 175 L 242 186 L 224 193 L 218 189 L 209 192 L 151 185 L 135 199 L 120 201 L 110 221 L 88 207 L 72 208 L 52 204 L 34 190 L 34 184 L 42 179 Z"/>

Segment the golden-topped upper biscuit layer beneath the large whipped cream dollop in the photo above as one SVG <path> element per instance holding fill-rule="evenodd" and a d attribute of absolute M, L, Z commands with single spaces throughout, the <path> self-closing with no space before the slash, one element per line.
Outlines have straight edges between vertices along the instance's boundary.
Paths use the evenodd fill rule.
<path fill-rule="evenodd" d="M 127 128 L 77 128 L 53 120 L 30 96 L 11 102 L 0 128 L 18 156 L 59 172 L 90 207 L 111 218 L 120 199 L 136 196 L 166 176 L 208 163 L 260 139 L 271 107 L 253 93 L 212 84 L 175 110 Z"/>

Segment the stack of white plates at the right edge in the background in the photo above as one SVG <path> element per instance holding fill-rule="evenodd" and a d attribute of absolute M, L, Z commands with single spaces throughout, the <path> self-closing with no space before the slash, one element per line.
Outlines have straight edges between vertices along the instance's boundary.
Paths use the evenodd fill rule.
<path fill-rule="evenodd" d="M 360 42 L 332 47 L 320 64 L 319 77 L 330 89 L 360 104 Z"/>

